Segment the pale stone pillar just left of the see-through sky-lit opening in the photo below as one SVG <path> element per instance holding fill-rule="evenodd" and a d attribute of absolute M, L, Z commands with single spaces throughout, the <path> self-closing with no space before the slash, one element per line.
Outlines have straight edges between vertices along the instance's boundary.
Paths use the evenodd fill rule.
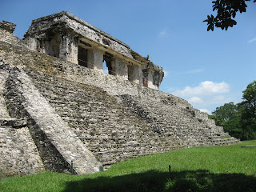
<path fill-rule="evenodd" d="M 88 68 L 103 72 L 103 51 L 97 49 L 88 50 Z"/>

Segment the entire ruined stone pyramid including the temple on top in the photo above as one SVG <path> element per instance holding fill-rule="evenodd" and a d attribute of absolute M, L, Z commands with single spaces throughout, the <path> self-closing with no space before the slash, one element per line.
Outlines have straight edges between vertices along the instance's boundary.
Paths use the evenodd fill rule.
<path fill-rule="evenodd" d="M 0 28 L 0 58 L 4 61 L 0 63 L 0 174 L 34 174 L 42 170 L 88 174 L 99 171 L 101 166 L 142 155 L 238 142 L 186 100 L 152 87 L 162 81 L 162 68 L 146 58 L 146 66 L 134 65 L 137 70 L 128 71 L 134 77 L 139 77 L 138 69 L 142 76 L 149 78 L 150 74 L 152 81 L 144 81 L 148 87 L 140 82 L 143 79 L 129 81 L 130 75 L 120 71 L 131 65 L 122 63 L 136 62 L 142 56 L 108 34 L 96 33 L 109 41 L 108 56 L 116 56 L 111 64 L 118 69 L 113 70 L 115 74 L 104 74 L 101 66 L 95 65 L 97 59 L 112 61 L 113 57 L 104 56 L 106 50 L 96 50 L 88 40 L 96 36 L 90 33 L 82 37 L 89 35 L 84 42 L 95 48 L 86 50 L 87 56 L 93 53 L 94 65 L 78 65 L 77 56 L 63 61 L 59 45 L 50 50 L 49 45 L 55 42 L 38 38 L 45 37 L 53 21 L 57 23 L 53 27 L 62 23 L 70 25 L 70 29 L 73 23 L 72 27 L 79 25 L 80 30 L 89 27 L 90 33 L 97 31 L 66 12 L 34 20 L 26 41 Z M 40 22 L 41 26 L 36 24 Z M 45 30 L 33 34 L 41 31 L 34 27 L 43 29 L 42 23 L 46 24 Z M 72 35 L 65 34 L 65 41 L 74 38 Z M 57 42 L 61 38 L 53 37 Z M 38 39 L 44 44 L 39 52 L 40 46 L 31 47 L 38 45 Z"/>

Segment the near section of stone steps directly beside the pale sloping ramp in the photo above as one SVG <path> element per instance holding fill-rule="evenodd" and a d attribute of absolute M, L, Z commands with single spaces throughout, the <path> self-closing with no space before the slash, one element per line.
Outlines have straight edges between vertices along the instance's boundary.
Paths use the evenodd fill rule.
<path fill-rule="evenodd" d="M 26 70 L 41 94 L 103 165 L 183 147 L 150 129 L 116 98 L 95 86 Z"/>

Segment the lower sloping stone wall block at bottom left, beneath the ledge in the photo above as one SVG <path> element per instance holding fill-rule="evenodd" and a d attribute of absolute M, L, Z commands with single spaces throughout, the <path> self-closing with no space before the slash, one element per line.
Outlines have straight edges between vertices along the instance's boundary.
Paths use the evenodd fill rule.
<path fill-rule="evenodd" d="M 44 170 L 28 127 L 0 125 L 0 177 L 36 174 Z"/>

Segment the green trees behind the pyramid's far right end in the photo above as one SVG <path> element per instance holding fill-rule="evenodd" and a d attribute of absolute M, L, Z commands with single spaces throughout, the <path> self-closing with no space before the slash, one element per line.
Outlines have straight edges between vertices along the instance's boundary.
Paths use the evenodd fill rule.
<path fill-rule="evenodd" d="M 256 139 L 256 81 L 243 91 L 242 99 L 238 104 L 230 102 L 217 107 L 210 118 L 235 138 Z"/>

